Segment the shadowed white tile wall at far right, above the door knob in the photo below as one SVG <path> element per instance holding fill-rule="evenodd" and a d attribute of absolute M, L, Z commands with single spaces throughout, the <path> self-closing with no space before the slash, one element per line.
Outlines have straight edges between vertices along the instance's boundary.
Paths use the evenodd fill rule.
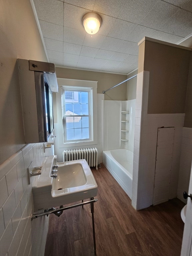
<path fill-rule="evenodd" d="M 187 203 L 187 200 L 183 198 L 183 192 L 186 191 L 188 193 L 189 189 L 189 179 L 192 161 L 192 128 L 183 127 L 181 143 L 181 158 L 179 165 L 177 197 L 184 203 Z"/>

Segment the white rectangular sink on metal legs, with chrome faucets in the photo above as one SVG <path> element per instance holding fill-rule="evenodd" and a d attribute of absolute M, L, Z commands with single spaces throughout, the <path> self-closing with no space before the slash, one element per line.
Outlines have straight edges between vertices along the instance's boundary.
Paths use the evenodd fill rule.
<path fill-rule="evenodd" d="M 65 205 L 97 195 L 97 184 L 85 159 L 57 163 L 47 157 L 32 187 L 34 212 Z M 52 165 L 58 165 L 57 178 L 51 178 Z"/>

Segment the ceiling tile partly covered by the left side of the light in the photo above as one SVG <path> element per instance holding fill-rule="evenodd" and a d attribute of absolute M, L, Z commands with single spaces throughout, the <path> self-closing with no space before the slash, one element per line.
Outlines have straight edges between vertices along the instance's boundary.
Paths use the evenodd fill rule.
<path fill-rule="evenodd" d="M 85 32 L 82 18 L 87 13 L 87 10 L 64 3 L 64 27 L 79 29 Z"/>

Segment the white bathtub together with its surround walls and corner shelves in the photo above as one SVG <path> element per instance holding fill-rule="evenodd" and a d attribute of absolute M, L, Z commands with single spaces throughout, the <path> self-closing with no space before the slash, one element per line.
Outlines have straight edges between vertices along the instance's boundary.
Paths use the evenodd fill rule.
<path fill-rule="evenodd" d="M 107 101 L 104 106 L 103 164 L 132 198 L 136 100 Z"/>

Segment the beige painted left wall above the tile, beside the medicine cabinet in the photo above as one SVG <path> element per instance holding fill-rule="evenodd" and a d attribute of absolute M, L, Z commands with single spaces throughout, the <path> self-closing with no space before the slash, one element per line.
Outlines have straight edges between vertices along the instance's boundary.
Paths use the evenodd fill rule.
<path fill-rule="evenodd" d="M 24 146 L 17 58 L 47 61 L 30 1 L 0 1 L 0 163 Z"/>

